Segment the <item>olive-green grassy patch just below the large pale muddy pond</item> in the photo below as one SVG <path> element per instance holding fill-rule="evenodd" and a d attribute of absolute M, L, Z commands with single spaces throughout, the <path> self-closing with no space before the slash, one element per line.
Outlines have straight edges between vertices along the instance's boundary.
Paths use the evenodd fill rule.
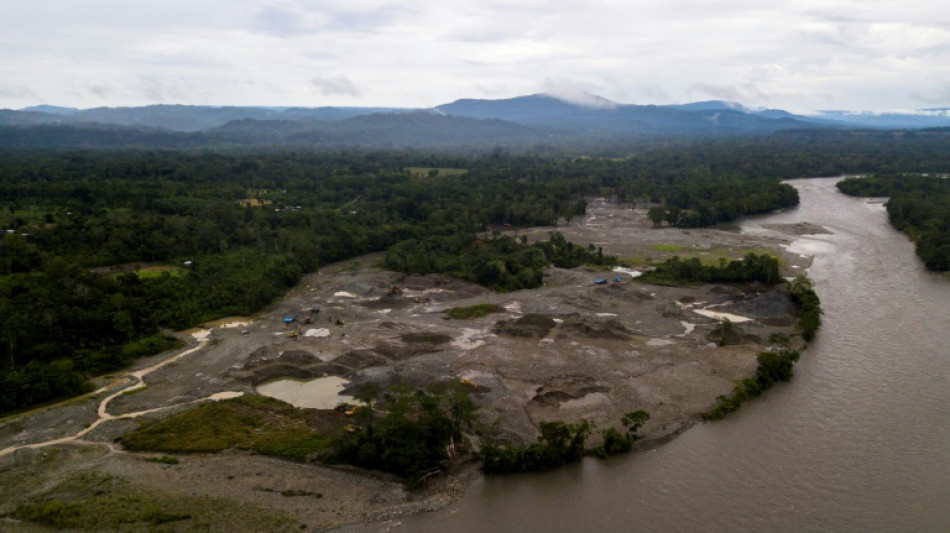
<path fill-rule="evenodd" d="M 131 451 L 211 453 L 253 450 L 294 461 L 327 447 L 330 439 L 314 432 L 305 411 L 265 396 L 242 396 L 208 403 L 124 435 Z"/>

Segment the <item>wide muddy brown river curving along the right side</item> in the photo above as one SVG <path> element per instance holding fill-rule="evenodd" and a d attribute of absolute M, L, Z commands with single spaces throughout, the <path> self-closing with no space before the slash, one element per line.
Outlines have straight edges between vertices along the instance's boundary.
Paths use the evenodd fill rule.
<path fill-rule="evenodd" d="M 373 531 L 950 531 L 950 282 L 928 273 L 884 207 L 791 181 L 811 222 L 791 250 L 823 327 L 789 384 L 655 450 L 479 479 L 437 513 Z"/>

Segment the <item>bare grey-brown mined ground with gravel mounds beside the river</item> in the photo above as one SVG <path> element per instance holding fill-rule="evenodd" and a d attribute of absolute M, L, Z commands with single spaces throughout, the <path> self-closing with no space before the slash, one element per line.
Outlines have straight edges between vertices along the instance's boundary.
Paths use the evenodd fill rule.
<path fill-rule="evenodd" d="M 808 264 L 808 258 L 781 252 L 788 238 L 650 226 L 642 211 L 595 204 L 584 221 L 557 229 L 574 242 L 643 263 L 778 249 L 787 274 Z M 549 231 L 518 233 L 544 238 Z M 482 420 L 499 420 L 497 437 L 514 442 L 532 441 L 541 421 L 588 420 L 605 428 L 643 409 L 651 418 L 641 435 L 647 443 L 661 442 L 695 423 L 735 379 L 751 375 L 773 334 L 793 332 L 787 298 L 764 286 L 658 287 L 625 272 L 552 268 L 543 288 L 496 294 L 445 276 L 381 271 L 377 261 L 366 257 L 327 267 L 259 316 L 214 328 L 195 353 L 145 376 L 147 387 L 114 398 L 110 418 L 80 442 L 0 455 L 0 513 L 90 471 L 156 494 L 257 506 L 293 527 L 320 529 L 437 509 L 464 491 L 476 475 L 474 464 L 456 465 L 452 475 L 408 491 L 385 476 L 247 453 L 181 456 L 175 465 L 148 462 L 112 442 L 139 418 L 161 419 L 215 394 L 256 394 L 258 385 L 275 379 L 322 376 L 345 378 L 347 391 L 367 382 L 425 386 L 464 380 Z M 596 284 L 598 278 L 609 281 Z M 504 311 L 465 320 L 445 313 L 484 303 Z M 288 316 L 296 316 L 289 326 L 283 322 Z M 722 317 L 730 319 L 727 330 Z M 141 361 L 133 371 L 167 357 Z M 103 385 L 110 381 L 111 387 L 87 399 L 0 421 L 0 450 L 89 426 L 102 416 L 98 402 L 131 378 L 116 375 Z M 319 413 L 314 411 L 316 422 Z"/>

